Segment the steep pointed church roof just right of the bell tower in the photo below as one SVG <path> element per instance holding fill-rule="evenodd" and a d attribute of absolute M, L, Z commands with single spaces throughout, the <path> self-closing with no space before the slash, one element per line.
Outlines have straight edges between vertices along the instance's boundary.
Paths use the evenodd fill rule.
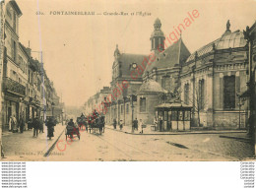
<path fill-rule="evenodd" d="M 189 57 L 190 52 L 185 46 L 182 38 L 179 38 L 176 43 L 167 47 L 160 54 L 156 55 L 156 59 L 151 65 L 146 67 L 146 72 L 151 72 L 154 68 L 166 69 L 181 65 Z"/>

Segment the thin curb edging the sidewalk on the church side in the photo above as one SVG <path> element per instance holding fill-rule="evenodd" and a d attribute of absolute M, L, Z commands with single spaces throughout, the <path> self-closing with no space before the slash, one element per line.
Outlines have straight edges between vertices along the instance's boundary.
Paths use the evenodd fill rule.
<path fill-rule="evenodd" d="M 167 134 L 164 134 L 164 133 L 160 133 L 160 134 L 154 134 L 154 133 L 136 134 L 136 133 L 129 133 L 129 132 L 126 132 L 126 131 L 120 131 L 120 130 L 116 130 L 116 129 L 112 129 L 112 128 L 108 128 L 108 127 L 105 127 L 105 128 L 113 130 L 113 131 L 122 132 L 122 133 L 125 133 L 125 134 L 130 134 L 130 135 L 201 135 L 201 134 L 246 133 L 246 131 L 229 131 L 229 132 L 220 131 L 220 132 L 183 132 L 183 133 L 167 133 Z"/>

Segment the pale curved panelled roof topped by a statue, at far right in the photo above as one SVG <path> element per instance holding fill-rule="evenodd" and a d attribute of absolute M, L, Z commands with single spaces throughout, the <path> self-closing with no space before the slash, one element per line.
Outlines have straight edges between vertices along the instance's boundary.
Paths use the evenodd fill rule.
<path fill-rule="evenodd" d="M 246 45 L 246 40 L 244 39 L 242 31 L 225 31 L 222 37 L 210 42 L 209 44 L 201 47 L 194 53 L 192 53 L 186 62 L 195 59 L 195 54 L 198 54 L 198 57 L 203 56 L 214 50 L 214 45 L 217 50 L 244 47 Z"/>

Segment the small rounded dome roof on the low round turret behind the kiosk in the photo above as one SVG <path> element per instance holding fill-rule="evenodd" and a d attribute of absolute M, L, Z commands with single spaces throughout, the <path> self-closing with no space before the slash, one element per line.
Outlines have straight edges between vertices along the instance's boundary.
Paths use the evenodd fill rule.
<path fill-rule="evenodd" d="M 142 84 L 139 89 L 139 94 L 149 94 L 149 93 L 167 93 L 160 87 L 160 84 L 156 81 L 150 79 Z"/>

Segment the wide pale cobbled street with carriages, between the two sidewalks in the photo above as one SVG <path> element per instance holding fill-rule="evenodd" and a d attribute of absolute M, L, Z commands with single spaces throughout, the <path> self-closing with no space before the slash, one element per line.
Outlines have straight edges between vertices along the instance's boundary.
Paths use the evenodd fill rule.
<path fill-rule="evenodd" d="M 240 160 L 253 156 L 245 133 L 131 135 L 105 129 L 102 135 L 81 132 L 81 140 L 63 134 L 43 160 Z"/>

